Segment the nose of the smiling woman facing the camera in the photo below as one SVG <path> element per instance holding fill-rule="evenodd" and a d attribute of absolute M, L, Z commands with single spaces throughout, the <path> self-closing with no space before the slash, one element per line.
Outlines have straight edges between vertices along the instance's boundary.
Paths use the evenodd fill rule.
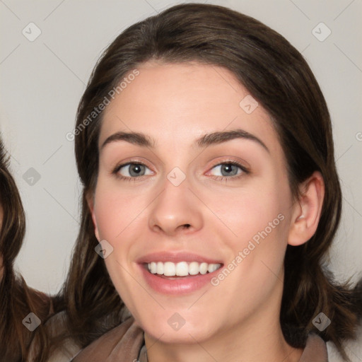
<path fill-rule="evenodd" d="M 151 230 L 176 236 L 180 233 L 194 233 L 202 228 L 202 202 L 189 189 L 187 177 L 177 186 L 165 178 L 163 185 L 163 191 L 149 209 Z"/>

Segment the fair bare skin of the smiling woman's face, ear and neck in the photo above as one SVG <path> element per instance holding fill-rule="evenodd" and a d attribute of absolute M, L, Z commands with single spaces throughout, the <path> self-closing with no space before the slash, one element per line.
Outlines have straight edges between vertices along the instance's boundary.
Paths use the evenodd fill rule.
<path fill-rule="evenodd" d="M 293 202 L 269 115 L 261 105 L 251 114 L 239 106 L 248 92 L 230 71 L 160 62 L 138 69 L 139 76 L 105 110 L 98 182 L 88 204 L 96 237 L 114 248 L 105 264 L 144 329 L 148 361 L 298 361 L 303 349 L 286 343 L 279 323 L 283 261 L 288 243 L 300 245 L 315 233 L 322 177 L 314 173 L 300 185 L 304 195 Z M 257 136 L 269 152 L 250 139 L 192 146 L 203 134 L 237 128 Z M 127 141 L 101 147 L 120 131 L 147 134 L 156 147 Z M 146 164 L 136 182 L 112 174 L 135 160 Z M 222 174 L 220 163 L 228 160 L 250 173 L 237 168 L 239 179 Z M 167 178 L 175 167 L 186 176 L 177 187 Z M 124 166 L 118 175 L 132 177 L 129 170 Z M 218 180 L 225 175 L 227 181 Z M 166 296 L 146 284 L 136 264 L 150 252 L 179 250 L 221 258 L 226 266 L 279 214 L 284 220 L 218 286 Z M 174 313 L 185 320 L 177 331 L 168 325 Z"/>

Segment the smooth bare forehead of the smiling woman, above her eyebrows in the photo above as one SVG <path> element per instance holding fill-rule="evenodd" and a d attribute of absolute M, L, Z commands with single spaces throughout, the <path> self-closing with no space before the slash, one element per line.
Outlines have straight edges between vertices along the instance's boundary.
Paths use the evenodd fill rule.
<path fill-rule="evenodd" d="M 228 69 L 153 61 L 137 70 L 106 107 L 99 144 L 115 132 L 132 131 L 150 135 L 156 144 L 173 140 L 191 146 L 206 132 L 244 129 L 271 150 L 280 148 L 269 115 Z"/>

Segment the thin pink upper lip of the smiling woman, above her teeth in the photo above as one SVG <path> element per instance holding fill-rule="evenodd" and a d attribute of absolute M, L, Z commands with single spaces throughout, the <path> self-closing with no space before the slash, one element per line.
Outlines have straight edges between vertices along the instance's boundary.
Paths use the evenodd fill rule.
<path fill-rule="evenodd" d="M 138 263 L 150 263 L 150 262 L 205 262 L 207 264 L 223 264 L 220 259 L 211 259 L 209 257 L 203 257 L 202 255 L 194 254 L 193 252 L 153 252 L 151 254 L 144 255 L 136 260 Z"/>

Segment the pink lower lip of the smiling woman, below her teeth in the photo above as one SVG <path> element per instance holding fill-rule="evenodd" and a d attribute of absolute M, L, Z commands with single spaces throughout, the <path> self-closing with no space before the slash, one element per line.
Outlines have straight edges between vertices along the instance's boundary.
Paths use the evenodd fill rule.
<path fill-rule="evenodd" d="M 195 276 L 182 276 L 179 279 L 168 279 L 164 276 L 158 276 L 158 274 L 152 274 L 144 267 L 143 264 L 139 264 L 141 272 L 144 275 L 144 279 L 147 284 L 158 293 L 180 295 L 186 293 L 192 293 L 202 288 L 206 284 L 211 285 L 211 279 L 219 272 L 219 269 L 212 273 L 197 274 Z M 222 267 L 222 266 L 221 266 Z M 170 276 L 173 278 L 173 276 Z"/>

